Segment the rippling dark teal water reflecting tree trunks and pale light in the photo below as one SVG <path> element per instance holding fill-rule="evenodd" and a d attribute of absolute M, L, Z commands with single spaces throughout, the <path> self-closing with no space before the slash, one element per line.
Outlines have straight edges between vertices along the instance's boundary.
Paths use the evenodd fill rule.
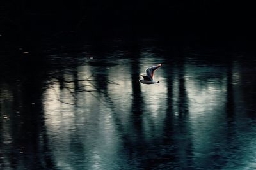
<path fill-rule="evenodd" d="M 0 168 L 256 169 L 255 59 L 124 46 L 2 66 Z M 160 83 L 138 83 L 158 63 Z"/>

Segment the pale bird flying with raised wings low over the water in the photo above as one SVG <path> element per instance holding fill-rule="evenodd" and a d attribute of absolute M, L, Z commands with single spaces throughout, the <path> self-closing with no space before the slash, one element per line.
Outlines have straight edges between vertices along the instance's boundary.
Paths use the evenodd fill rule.
<path fill-rule="evenodd" d="M 143 79 L 139 80 L 139 82 L 143 84 L 148 84 L 148 85 L 160 83 L 159 81 L 154 81 L 153 78 L 154 78 L 154 71 L 161 66 L 163 66 L 163 64 L 157 64 L 157 66 L 148 67 L 146 69 L 146 75 L 141 75 Z"/>

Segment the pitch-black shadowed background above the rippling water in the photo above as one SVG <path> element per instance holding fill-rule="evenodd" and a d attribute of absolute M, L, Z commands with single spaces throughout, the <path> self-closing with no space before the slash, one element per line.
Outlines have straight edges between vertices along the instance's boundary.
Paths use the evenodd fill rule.
<path fill-rule="evenodd" d="M 248 48 L 255 44 L 255 16 L 253 5 L 245 1 L 1 1 L 1 46 L 35 45 L 47 38 L 46 44 L 53 39 L 157 36 Z"/>

